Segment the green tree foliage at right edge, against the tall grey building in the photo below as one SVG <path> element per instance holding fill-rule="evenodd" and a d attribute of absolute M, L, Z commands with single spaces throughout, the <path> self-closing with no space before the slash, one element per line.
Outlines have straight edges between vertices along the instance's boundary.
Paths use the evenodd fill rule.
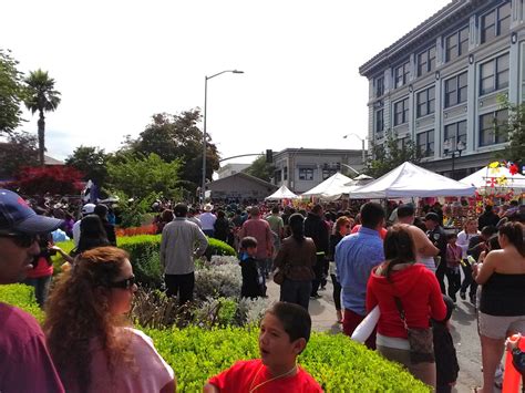
<path fill-rule="evenodd" d="M 507 134 L 508 144 L 496 156 L 514 162 L 521 168 L 525 165 L 525 103 L 516 105 L 505 99 L 501 106 L 508 110 L 508 122 L 503 125 L 495 121 L 494 128 L 496 133 Z"/>

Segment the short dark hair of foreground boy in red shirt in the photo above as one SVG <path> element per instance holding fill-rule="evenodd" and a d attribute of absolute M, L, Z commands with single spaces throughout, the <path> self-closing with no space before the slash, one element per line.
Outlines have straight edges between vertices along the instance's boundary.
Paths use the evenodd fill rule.
<path fill-rule="evenodd" d="M 305 339 L 306 342 L 310 340 L 311 318 L 303 307 L 278 301 L 266 313 L 272 314 L 282 323 L 290 342 L 298 339 Z"/>

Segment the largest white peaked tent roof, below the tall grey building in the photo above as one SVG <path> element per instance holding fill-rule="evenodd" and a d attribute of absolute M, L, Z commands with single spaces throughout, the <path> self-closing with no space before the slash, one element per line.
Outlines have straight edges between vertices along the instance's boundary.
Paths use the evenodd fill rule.
<path fill-rule="evenodd" d="M 404 163 L 354 192 L 353 199 L 472 196 L 475 187 L 437 175 L 412 163 Z"/>

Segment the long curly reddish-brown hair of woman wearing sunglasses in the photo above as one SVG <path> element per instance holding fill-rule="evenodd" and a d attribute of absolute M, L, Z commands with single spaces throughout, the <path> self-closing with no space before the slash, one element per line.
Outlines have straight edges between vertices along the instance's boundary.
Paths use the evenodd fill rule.
<path fill-rule="evenodd" d="M 128 321 L 110 312 L 104 296 L 126 259 L 127 252 L 116 247 L 82 252 L 73 268 L 61 275 L 51 292 L 44 332 L 66 391 L 89 391 L 93 340 L 97 340 L 105 352 L 111 373 L 123 363 L 134 369 L 133 356 L 127 350 L 131 337 L 117 329 L 127 325 Z"/>

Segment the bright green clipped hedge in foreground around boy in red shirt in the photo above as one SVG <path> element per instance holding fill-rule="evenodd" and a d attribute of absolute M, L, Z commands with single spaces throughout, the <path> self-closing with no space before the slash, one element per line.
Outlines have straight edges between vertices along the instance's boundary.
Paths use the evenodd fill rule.
<path fill-rule="evenodd" d="M 42 321 L 32 288 L 0 286 L 0 301 L 21 307 Z M 174 369 L 178 392 L 199 392 L 206 381 L 240 359 L 258 358 L 257 328 L 144 330 Z M 342 334 L 313 332 L 299 356 L 326 392 L 430 392 L 400 365 Z"/>

